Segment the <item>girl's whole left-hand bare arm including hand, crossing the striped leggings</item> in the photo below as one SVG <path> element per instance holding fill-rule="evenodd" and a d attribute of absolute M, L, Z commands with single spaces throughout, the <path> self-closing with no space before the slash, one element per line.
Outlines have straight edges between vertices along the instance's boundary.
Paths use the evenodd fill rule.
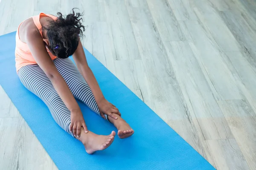
<path fill-rule="evenodd" d="M 85 128 L 86 126 L 83 117 L 82 121 L 76 121 L 77 119 L 81 120 L 81 110 L 73 94 L 71 93 L 67 83 L 65 82 L 61 74 L 58 72 L 57 68 L 52 62 L 52 59 L 49 57 L 44 41 L 42 40 L 41 34 L 38 31 L 35 33 L 29 33 L 26 36 L 26 42 L 27 45 L 29 46 L 32 56 L 35 58 L 35 61 L 38 63 L 40 68 L 42 68 L 47 77 L 50 79 L 58 95 L 61 97 L 62 101 L 67 106 L 67 108 L 70 110 L 71 118 L 72 116 L 75 117 L 75 121 L 72 122 L 71 119 L 71 122 L 73 124 L 76 124 L 76 127 L 75 125 L 73 126 L 73 124 L 71 123 L 70 131 L 73 130 L 74 135 L 76 135 L 76 132 L 78 133 L 78 135 L 80 135 L 81 126 L 83 126 L 85 130 L 87 130 L 87 128 Z M 81 126 L 80 123 L 82 124 Z M 77 129 L 77 127 L 79 126 L 80 128 Z"/>

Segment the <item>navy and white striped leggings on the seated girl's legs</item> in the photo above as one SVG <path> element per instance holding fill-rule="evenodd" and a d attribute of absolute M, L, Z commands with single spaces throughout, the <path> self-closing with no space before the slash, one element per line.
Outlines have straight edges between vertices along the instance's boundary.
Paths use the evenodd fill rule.
<path fill-rule="evenodd" d="M 56 58 L 53 62 L 61 76 L 67 82 L 73 96 L 84 102 L 95 113 L 99 114 L 99 108 L 89 85 L 85 82 L 71 59 Z M 58 125 L 73 136 L 73 133 L 69 130 L 71 123 L 70 111 L 57 94 L 52 82 L 44 71 L 37 64 L 26 65 L 20 68 L 18 76 L 22 84 L 29 91 L 44 101 Z M 108 120 L 106 114 L 105 118 Z"/>

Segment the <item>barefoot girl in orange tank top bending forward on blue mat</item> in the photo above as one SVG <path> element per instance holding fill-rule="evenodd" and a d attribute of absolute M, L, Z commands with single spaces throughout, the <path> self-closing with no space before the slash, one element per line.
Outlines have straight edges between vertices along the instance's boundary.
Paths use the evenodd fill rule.
<path fill-rule="evenodd" d="M 15 61 L 23 85 L 49 108 L 52 117 L 67 133 L 84 144 L 87 153 L 104 150 L 116 135 L 97 135 L 89 130 L 76 99 L 113 123 L 124 139 L 134 130 L 108 102 L 87 65 L 80 41 L 84 26 L 81 14 L 72 10 L 64 17 L 41 13 L 23 21 L 17 29 Z M 76 65 L 68 58 L 73 55 Z"/>

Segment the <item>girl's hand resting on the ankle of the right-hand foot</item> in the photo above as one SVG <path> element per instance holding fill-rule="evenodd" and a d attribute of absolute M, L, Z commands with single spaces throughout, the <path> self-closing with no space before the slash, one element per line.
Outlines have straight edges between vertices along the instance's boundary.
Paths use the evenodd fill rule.
<path fill-rule="evenodd" d="M 98 104 L 99 107 L 99 113 L 100 116 L 102 116 L 104 119 L 104 113 L 107 114 L 108 116 L 112 117 L 113 119 L 117 119 L 117 117 L 113 114 L 116 113 L 119 116 L 121 116 L 121 113 L 119 112 L 118 108 L 116 106 L 112 105 L 108 100 L 102 99 Z"/>

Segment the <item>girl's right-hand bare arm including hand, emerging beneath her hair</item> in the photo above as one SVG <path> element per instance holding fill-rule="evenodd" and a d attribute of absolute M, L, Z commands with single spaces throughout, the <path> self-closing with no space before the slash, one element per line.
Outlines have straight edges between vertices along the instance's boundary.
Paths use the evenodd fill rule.
<path fill-rule="evenodd" d="M 87 64 L 87 60 L 84 54 L 84 49 L 80 40 L 79 40 L 78 47 L 75 53 L 73 54 L 73 58 L 76 62 L 76 65 L 80 73 L 82 74 L 85 81 L 88 83 L 91 91 L 93 92 L 93 96 L 99 107 L 101 116 L 105 119 L 105 116 L 103 115 L 103 113 L 105 113 L 111 116 L 113 119 L 117 119 L 116 116 L 114 116 L 112 113 L 116 113 L 119 115 L 121 114 L 119 113 L 118 109 L 114 105 L 109 103 L 103 96 L 102 91 L 99 88 L 99 84 L 96 78 L 94 77 L 93 72 L 91 71 L 90 67 Z"/>

